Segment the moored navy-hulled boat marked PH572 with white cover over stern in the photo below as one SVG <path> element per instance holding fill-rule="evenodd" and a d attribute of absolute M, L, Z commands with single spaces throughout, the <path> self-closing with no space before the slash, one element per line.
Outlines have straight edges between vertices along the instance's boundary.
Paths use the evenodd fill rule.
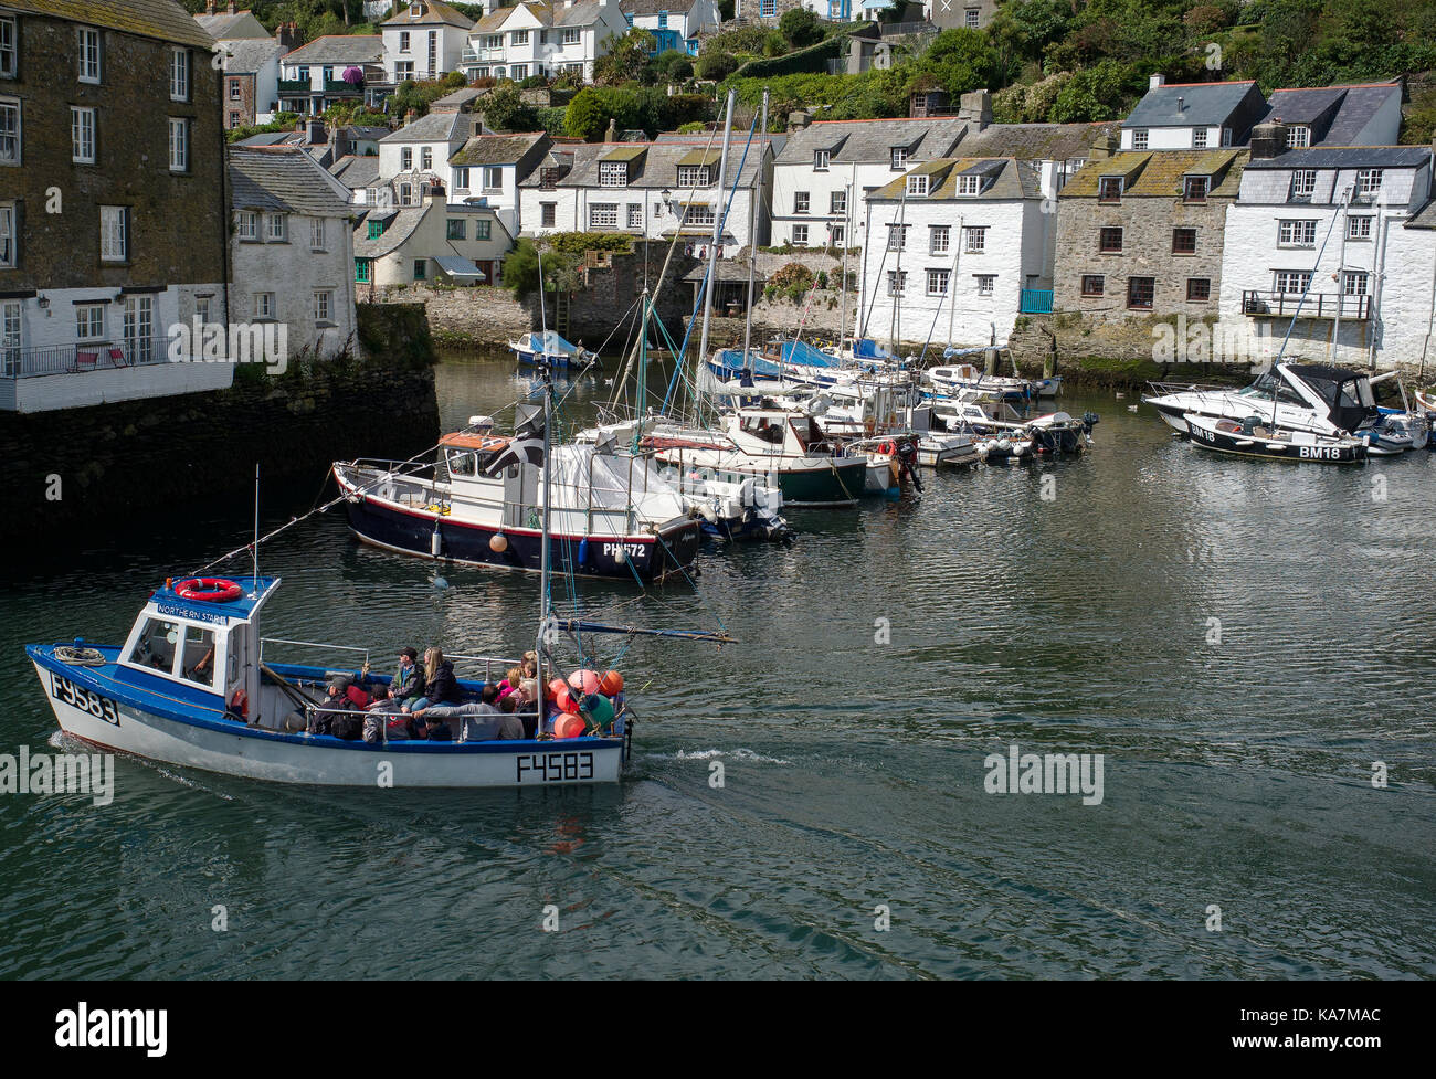
<path fill-rule="evenodd" d="M 349 528 L 363 542 L 434 561 L 503 570 L 541 568 L 544 469 L 516 461 L 490 475 L 513 439 L 455 432 L 429 465 L 335 462 Z M 510 453 L 510 458 L 513 455 Z M 682 574 L 701 528 L 651 461 L 593 445 L 549 455 L 556 570 L 628 581 Z"/>

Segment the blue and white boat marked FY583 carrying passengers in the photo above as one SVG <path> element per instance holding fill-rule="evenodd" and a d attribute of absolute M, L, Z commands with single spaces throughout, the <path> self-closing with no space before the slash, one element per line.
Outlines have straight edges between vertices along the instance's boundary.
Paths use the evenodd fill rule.
<path fill-rule="evenodd" d="M 336 676 L 385 689 L 366 674 L 362 649 L 264 639 L 260 613 L 280 580 L 167 581 L 121 646 L 27 644 L 60 729 L 70 738 L 149 760 L 284 783 L 329 786 L 540 786 L 616 782 L 632 739 L 622 694 L 603 736 L 503 742 L 391 739 L 312 733 Z M 202 597 L 202 598 L 197 598 Z M 358 670 L 280 663 L 276 646 L 363 657 Z M 482 669 L 460 679 L 465 697 L 503 677 L 514 660 L 451 657 Z M 381 713 L 365 713 L 381 715 Z M 537 720 L 537 715 L 534 715 Z"/>

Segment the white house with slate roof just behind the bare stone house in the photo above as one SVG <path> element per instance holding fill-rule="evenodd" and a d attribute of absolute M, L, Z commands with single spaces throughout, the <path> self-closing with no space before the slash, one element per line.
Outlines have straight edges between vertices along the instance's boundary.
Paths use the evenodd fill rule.
<path fill-rule="evenodd" d="M 1122 122 L 1122 149 L 1219 149 L 1245 146 L 1267 113 L 1252 82 L 1169 83 L 1153 75 L 1146 96 Z"/>

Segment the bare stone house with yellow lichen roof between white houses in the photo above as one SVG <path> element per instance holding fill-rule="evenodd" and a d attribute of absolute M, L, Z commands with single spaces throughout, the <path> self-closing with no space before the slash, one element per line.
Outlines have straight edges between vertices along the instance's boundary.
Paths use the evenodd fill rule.
<path fill-rule="evenodd" d="M 1057 199 L 1053 304 L 1093 320 L 1218 313 L 1245 149 L 1093 159 Z"/>

